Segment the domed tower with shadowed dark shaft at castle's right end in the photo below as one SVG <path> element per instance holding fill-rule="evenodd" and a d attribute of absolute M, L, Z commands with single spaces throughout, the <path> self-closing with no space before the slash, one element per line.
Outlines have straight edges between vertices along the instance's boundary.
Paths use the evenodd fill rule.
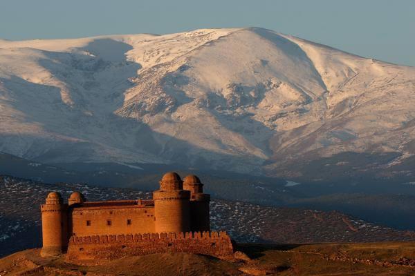
<path fill-rule="evenodd" d="M 190 190 L 190 228 L 192 231 L 210 231 L 210 195 L 203 193 L 203 184 L 196 175 L 187 175 L 183 183 Z"/>

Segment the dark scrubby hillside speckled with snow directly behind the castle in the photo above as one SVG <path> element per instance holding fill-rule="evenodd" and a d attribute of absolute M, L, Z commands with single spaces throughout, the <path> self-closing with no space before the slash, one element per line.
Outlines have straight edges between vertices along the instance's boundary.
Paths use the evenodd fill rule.
<path fill-rule="evenodd" d="M 150 192 L 85 184 L 43 184 L 0 177 L 0 256 L 42 246 L 40 204 L 51 190 L 67 198 L 80 190 L 91 201 L 138 199 Z M 213 199 L 213 230 L 226 230 L 237 242 L 312 243 L 414 241 L 415 232 L 378 226 L 338 212 L 277 208 Z"/>

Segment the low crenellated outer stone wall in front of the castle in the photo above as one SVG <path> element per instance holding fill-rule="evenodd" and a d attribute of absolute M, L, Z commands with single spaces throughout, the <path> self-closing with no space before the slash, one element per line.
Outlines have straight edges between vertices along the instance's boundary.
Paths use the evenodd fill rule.
<path fill-rule="evenodd" d="M 127 235 L 73 236 L 68 260 L 111 260 L 154 253 L 186 252 L 233 258 L 233 245 L 225 232 L 148 233 Z"/>

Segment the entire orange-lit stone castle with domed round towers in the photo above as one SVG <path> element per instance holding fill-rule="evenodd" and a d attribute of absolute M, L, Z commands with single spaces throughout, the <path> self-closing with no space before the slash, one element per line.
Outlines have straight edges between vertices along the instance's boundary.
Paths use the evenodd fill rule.
<path fill-rule="evenodd" d="M 128 255 L 189 252 L 230 257 L 225 232 L 210 232 L 210 195 L 196 175 L 176 172 L 160 180 L 153 199 L 86 201 L 72 193 L 68 204 L 52 192 L 42 204 L 41 255 L 67 253 L 75 260 L 117 259 Z"/>

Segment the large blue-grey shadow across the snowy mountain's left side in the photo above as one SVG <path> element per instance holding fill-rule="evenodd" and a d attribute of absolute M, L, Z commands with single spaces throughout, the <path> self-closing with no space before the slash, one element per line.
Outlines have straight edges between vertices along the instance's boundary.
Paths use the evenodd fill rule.
<path fill-rule="evenodd" d="M 62 159 L 65 162 L 101 161 L 116 155 L 131 162 L 144 159 L 151 160 L 149 163 L 169 162 L 221 170 L 228 170 L 235 162 L 246 164 L 250 160 L 255 168 L 248 165 L 243 169 L 258 168 L 261 161 L 257 157 L 236 158 L 200 148 L 189 141 L 155 132 L 136 119 L 113 114 L 124 103 L 124 92 L 132 87 L 130 79 L 137 77 L 141 68 L 139 63 L 127 60 L 125 54 L 131 49 L 121 41 L 97 39 L 71 52 L 42 51 L 44 58 L 38 62 L 53 75 L 50 81 L 53 84 L 39 84 L 17 76 L 1 79 L 11 91 L 9 104 L 24 113 L 27 123 L 42 128 L 40 135 L 29 132 L 14 137 L 12 134 L 7 141 L 2 139 L 3 143 L 11 141 L 14 148 L 25 144 L 23 157 L 45 163 Z M 85 55 L 85 51 L 91 55 Z M 63 88 L 55 86 L 56 80 L 64 83 Z M 102 81 L 110 87 L 103 87 Z M 42 135 L 43 130 L 46 135 Z M 19 152 L 10 153 L 21 156 Z"/>

